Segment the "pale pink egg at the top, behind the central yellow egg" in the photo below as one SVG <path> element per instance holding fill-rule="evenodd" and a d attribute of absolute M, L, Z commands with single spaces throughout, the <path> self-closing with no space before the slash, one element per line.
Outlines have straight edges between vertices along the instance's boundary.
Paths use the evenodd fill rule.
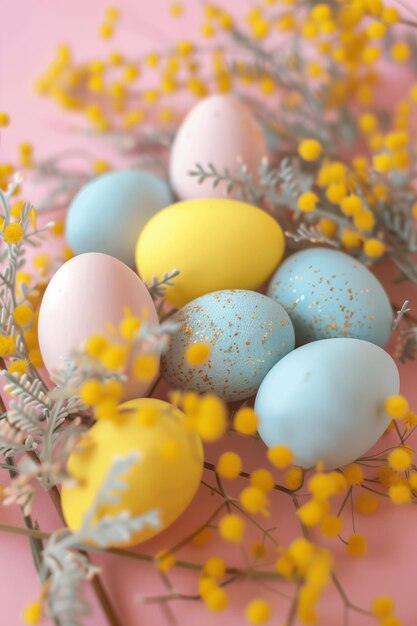
<path fill-rule="evenodd" d="M 250 109 L 235 96 L 213 95 L 199 102 L 182 122 L 172 145 L 169 173 L 180 200 L 221 198 L 226 184 L 213 187 L 213 179 L 199 183 L 196 165 L 213 164 L 221 174 L 236 175 L 244 163 L 255 177 L 267 154 L 262 130 Z"/>

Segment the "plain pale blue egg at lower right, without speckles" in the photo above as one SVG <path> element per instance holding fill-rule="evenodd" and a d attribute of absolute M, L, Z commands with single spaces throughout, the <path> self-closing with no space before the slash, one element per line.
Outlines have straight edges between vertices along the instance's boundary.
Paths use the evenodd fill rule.
<path fill-rule="evenodd" d="M 306 344 L 277 363 L 255 402 L 259 434 L 268 447 L 285 445 L 304 468 L 351 463 L 383 434 L 387 396 L 399 374 L 382 348 L 360 339 Z"/>

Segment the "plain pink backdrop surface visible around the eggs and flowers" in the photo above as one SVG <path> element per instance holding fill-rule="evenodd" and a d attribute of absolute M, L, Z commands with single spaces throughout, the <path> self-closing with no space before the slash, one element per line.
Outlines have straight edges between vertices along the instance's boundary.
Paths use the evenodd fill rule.
<path fill-rule="evenodd" d="M 34 78 L 41 73 L 51 60 L 55 45 L 62 41 L 74 44 L 79 59 L 91 58 L 99 52 L 121 49 L 124 52 L 149 50 L 167 47 L 179 38 L 181 30 L 192 37 L 199 15 L 197 2 L 188 2 L 186 15 L 178 21 L 167 17 L 168 0 L 124 0 L 122 21 L 116 39 L 111 43 L 100 41 L 96 35 L 108 2 L 104 0 L 2 0 L 0 36 L 0 111 L 8 111 L 12 125 L 2 132 L 0 161 L 15 160 L 16 146 L 21 141 L 33 142 L 36 154 L 46 157 L 69 147 L 88 145 L 96 157 L 103 156 L 102 144 L 88 141 L 74 131 L 78 127 L 76 117 L 64 115 L 55 104 L 42 100 L 32 91 Z M 242 0 L 227 1 L 227 6 L 242 7 Z M 246 9 L 246 5 L 245 5 Z M 382 273 L 382 272 L 381 272 Z M 401 304 L 409 298 L 417 305 L 417 291 L 412 287 L 390 285 L 384 276 L 385 284 L 393 300 Z M 402 391 L 417 406 L 415 386 L 415 364 L 401 367 Z M 414 377 L 414 381 L 413 381 Z M 413 390 L 414 388 L 414 390 Z M 385 446 L 386 441 L 382 443 Z M 233 440 L 233 446 L 242 449 L 251 470 L 263 464 L 262 444 Z M 221 446 L 207 446 L 206 458 L 215 462 Z M 277 474 L 277 479 L 279 475 Z M 206 480 L 213 481 L 208 473 Z M 239 485 L 233 488 L 237 492 Z M 217 496 L 210 496 L 202 487 L 186 515 L 158 539 L 141 546 L 140 550 L 156 552 L 179 541 L 208 517 L 215 507 Z M 286 515 L 288 498 L 274 495 L 274 506 L 270 526 L 279 525 L 293 516 Z M 376 517 L 364 518 L 358 515 L 357 531 L 364 533 L 369 541 L 369 553 L 365 560 L 355 560 L 345 554 L 342 544 L 336 549 L 340 553 L 337 573 L 351 599 L 357 605 L 368 607 L 371 599 L 379 593 L 391 594 L 398 607 L 397 614 L 405 626 L 415 626 L 417 599 L 415 593 L 415 572 L 417 566 L 417 545 L 415 528 L 417 509 L 414 506 L 394 508 L 381 501 L 381 510 Z M 35 517 L 43 530 L 52 530 L 59 525 L 58 519 L 48 501 L 36 502 Z M 20 514 L 12 508 L 0 509 L 0 522 L 21 525 Z M 346 529 L 349 523 L 346 521 Z M 346 532 L 344 534 L 347 534 Z M 254 537 L 256 532 L 254 533 Z M 277 537 L 286 543 L 292 536 L 291 525 L 282 527 Z M 216 545 L 217 542 L 217 545 Z M 228 561 L 241 563 L 238 551 L 213 537 L 203 548 L 187 547 L 180 555 L 192 561 L 203 561 L 208 555 L 224 555 L 228 551 Z M 22 608 L 36 599 L 38 583 L 27 540 L 24 537 L 0 535 L 0 605 L 2 623 L 8 626 L 21 624 Z M 275 555 L 272 555 L 275 558 Z M 138 561 L 130 561 L 112 556 L 94 559 L 103 566 L 103 580 L 120 612 L 125 626 L 141 624 L 163 624 L 164 617 L 158 607 L 140 606 L 135 600 L 141 593 L 161 593 L 163 587 L 154 568 Z M 183 592 L 196 592 L 195 574 L 176 569 L 173 573 L 176 587 Z M 274 595 L 259 585 L 248 582 L 234 583 L 230 588 L 230 607 L 220 616 L 206 611 L 201 603 L 176 602 L 173 609 L 182 626 L 195 624 L 228 623 L 237 626 L 244 623 L 242 600 L 262 595 L 274 604 L 274 624 L 280 624 L 286 615 L 288 601 Z M 332 592 L 326 595 L 320 605 L 320 626 L 341 626 L 342 609 L 338 597 Z M 99 610 L 87 620 L 90 626 L 105 624 Z M 352 625 L 373 623 L 367 617 L 351 615 Z"/>

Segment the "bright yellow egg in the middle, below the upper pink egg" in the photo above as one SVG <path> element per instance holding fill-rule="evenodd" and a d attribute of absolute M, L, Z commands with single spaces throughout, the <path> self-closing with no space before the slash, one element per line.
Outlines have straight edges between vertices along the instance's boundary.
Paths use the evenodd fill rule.
<path fill-rule="evenodd" d="M 167 301 L 181 307 L 220 289 L 258 289 L 284 253 L 284 235 L 265 211 L 244 202 L 205 198 L 178 202 L 157 213 L 136 246 L 146 281 L 179 269 Z"/>

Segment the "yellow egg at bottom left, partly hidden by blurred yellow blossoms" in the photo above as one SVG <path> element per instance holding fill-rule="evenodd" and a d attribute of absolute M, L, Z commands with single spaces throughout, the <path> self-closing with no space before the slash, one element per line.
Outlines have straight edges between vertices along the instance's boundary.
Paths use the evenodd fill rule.
<path fill-rule="evenodd" d="M 187 508 L 200 484 L 203 448 L 185 426 L 185 415 L 167 402 L 142 398 L 120 408 L 131 412 L 117 421 L 96 422 L 72 452 L 67 469 L 75 484 L 63 486 L 61 502 L 68 527 L 77 531 L 114 458 L 137 452 L 119 500 L 103 504 L 99 512 L 104 517 L 128 511 L 136 517 L 157 509 L 161 526 L 145 527 L 123 544 L 133 545 L 167 528 Z M 141 420 L 143 410 L 146 421 Z"/>

